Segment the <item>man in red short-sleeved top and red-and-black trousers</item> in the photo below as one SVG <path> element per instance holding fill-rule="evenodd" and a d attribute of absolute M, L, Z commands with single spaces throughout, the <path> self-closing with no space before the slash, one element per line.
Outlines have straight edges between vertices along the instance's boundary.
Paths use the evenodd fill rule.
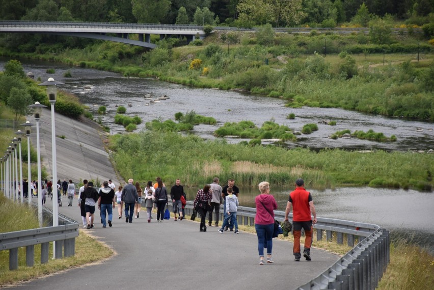
<path fill-rule="evenodd" d="M 305 182 L 299 178 L 295 181 L 296 189 L 289 194 L 288 203 L 285 210 L 285 221 L 288 220 L 288 214 L 292 206 L 292 225 L 294 229 L 294 248 L 293 253 L 295 261 L 300 261 L 302 257 L 300 253 L 300 237 L 302 228 L 305 229 L 306 239 L 303 256 L 310 261 L 310 247 L 312 245 L 312 217 L 313 224 L 316 224 L 315 206 L 310 192 L 304 189 Z"/>

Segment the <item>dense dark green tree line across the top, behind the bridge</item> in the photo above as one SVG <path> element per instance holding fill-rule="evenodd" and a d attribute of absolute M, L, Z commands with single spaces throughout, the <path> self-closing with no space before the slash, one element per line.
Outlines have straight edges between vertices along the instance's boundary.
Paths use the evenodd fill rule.
<path fill-rule="evenodd" d="M 209 11 L 213 22 L 241 18 L 285 26 L 350 21 L 363 4 L 379 17 L 408 19 L 434 12 L 434 0 L 0 0 L 0 19 L 176 23 L 182 8 L 189 23 L 204 22 L 203 15 L 195 17 L 200 9 Z"/>

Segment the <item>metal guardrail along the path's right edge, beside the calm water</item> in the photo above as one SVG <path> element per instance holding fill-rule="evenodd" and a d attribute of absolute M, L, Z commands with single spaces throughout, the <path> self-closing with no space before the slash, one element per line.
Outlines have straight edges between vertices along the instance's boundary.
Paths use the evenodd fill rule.
<path fill-rule="evenodd" d="M 169 201 L 169 204 L 171 205 L 172 202 Z M 185 215 L 192 213 L 193 202 L 187 201 Z M 277 210 L 274 213 L 275 219 L 282 222 L 285 213 Z M 254 226 L 255 215 L 256 208 L 239 206 L 237 210 L 238 224 Z M 220 216 L 222 220 L 223 205 L 220 206 Z M 292 222 L 292 214 L 288 215 L 288 219 Z M 354 246 L 356 238 L 359 239 L 359 243 L 329 269 L 298 287 L 297 290 L 375 289 L 390 261 L 389 232 L 374 224 L 328 218 L 317 218 L 317 221 L 318 223 L 314 225 L 317 241 L 322 240 L 325 230 L 328 241 L 332 241 L 333 233 L 336 233 L 338 244 L 343 244 L 344 234 L 346 234 L 348 246 Z"/>

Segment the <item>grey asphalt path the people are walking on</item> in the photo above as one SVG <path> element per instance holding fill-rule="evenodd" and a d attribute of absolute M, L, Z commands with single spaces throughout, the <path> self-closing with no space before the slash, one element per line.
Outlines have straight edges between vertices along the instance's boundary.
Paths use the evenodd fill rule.
<path fill-rule="evenodd" d="M 63 204 L 67 204 L 63 197 Z M 59 212 L 79 221 L 77 199 Z M 199 222 L 147 222 L 146 210 L 126 223 L 114 210 L 113 227 L 102 228 L 97 209 L 95 227 L 85 229 L 116 254 L 98 263 L 17 285 L 16 289 L 294 289 L 318 276 L 339 256 L 311 249 L 312 261 L 293 261 L 292 243 L 273 240 L 274 264 L 259 265 L 256 234 L 199 231 Z M 124 217 L 124 214 L 123 214 Z M 265 251 L 266 252 L 266 251 Z"/>

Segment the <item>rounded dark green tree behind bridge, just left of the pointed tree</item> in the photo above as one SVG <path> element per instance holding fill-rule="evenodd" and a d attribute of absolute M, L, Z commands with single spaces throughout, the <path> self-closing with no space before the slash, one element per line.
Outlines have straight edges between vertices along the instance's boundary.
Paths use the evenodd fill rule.
<path fill-rule="evenodd" d="M 170 9 L 170 0 L 132 0 L 132 14 L 139 23 L 160 23 Z"/>

